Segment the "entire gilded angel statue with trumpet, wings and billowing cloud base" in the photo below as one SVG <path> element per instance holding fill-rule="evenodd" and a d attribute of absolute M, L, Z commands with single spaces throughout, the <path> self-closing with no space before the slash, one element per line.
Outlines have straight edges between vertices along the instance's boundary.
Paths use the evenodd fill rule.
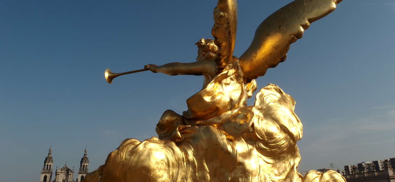
<path fill-rule="evenodd" d="M 143 142 L 124 140 L 83 182 L 346 182 L 335 171 L 297 172 L 302 124 L 295 101 L 278 86 L 256 90 L 256 79 L 286 58 L 290 44 L 341 0 L 295 0 L 258 27 L 252 44 L 233 56 L 236 0 L 214 8 L 214 39 L 200 39 L 197 62 L 149 64 L 167 75 L 202 75 L 203 88 L 186 100 L 182 115 L 167 110 Z M 142 70 L 130 71 L 130 73 Z M 106 71 L 109 83 L 118 75 Z"/>

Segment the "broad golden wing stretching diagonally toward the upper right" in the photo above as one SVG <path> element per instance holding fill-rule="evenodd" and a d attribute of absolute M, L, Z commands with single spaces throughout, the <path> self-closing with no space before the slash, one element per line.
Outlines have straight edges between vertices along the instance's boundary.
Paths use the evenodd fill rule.
<path fill-rule="evenodd" d="M 247 51 L 240 56 L 244 81 L 263 76 L 286 59 L 291 43 L 303 31 L 336 8 L 342 0 L 295 0 L 267 17 L 256 29 Z"/>

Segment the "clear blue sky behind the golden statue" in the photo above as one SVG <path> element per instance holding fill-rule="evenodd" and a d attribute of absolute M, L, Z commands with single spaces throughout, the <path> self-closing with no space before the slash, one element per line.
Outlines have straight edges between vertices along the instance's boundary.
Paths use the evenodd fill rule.
<path fill-rule="evenodd" d="M 239 1 L 234 55 L 291 1 Z M 124 139 L 156 136 L 162 113 L 186 110 L 203 77 L 145 71 L 110 85 L 104 71 L 195 61 L 194 44 L 212 38 L 215 6 L 0 1 L 0 181 L 39 181 L 51 144 L 54 166 L 67 162 L 76 171 L 87 145 L 94 171 Z M 285 62 L 257 79 L 258 88 L 276 84 L 296 101 L 300 171 L 395 157 L 394 29 L 394 0 L 343 0 L 291 45 Z"/>

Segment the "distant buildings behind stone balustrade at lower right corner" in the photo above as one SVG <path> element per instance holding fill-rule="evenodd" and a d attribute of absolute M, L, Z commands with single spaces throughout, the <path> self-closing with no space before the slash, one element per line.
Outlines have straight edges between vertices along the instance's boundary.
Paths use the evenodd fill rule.
<path fill-rule="evenodd" d="M 392 161 L 391 161 L 392 159 Z M 345 165 L 347 182 L 395 182 L 395 158 Z"/>

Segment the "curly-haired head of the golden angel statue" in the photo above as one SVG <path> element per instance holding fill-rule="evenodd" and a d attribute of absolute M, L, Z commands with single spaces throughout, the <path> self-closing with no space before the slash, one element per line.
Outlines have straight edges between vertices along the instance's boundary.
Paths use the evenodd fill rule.
<path fill-rule="evenodd" d="M 198 45 L 197 61 L 213 59 L 217 54 L 218 47 L 214 44 L 213 39 L 200 39 L 195 45 Z"/>

